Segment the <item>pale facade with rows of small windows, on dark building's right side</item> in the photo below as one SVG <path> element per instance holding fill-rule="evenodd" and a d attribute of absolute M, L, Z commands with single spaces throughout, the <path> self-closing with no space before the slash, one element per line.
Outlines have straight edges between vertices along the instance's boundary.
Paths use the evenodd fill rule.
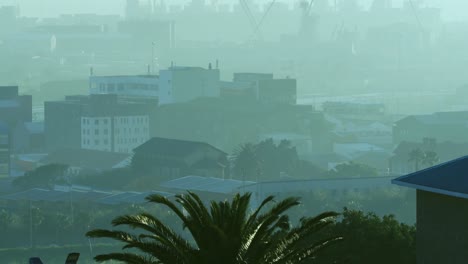
<path fill-rule="evenodd" d="M 149 138 L 147 115 L 81 118 L 83 149 L 132 153 Z"/>

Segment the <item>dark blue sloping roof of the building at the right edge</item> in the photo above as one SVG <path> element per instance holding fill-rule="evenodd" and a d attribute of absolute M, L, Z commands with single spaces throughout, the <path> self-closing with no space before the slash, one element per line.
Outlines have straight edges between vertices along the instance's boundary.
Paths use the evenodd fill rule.
<path fill-rule="evenodd" d="M 392 183 L 468 199 L 468 156 L 401 176 Z"/>

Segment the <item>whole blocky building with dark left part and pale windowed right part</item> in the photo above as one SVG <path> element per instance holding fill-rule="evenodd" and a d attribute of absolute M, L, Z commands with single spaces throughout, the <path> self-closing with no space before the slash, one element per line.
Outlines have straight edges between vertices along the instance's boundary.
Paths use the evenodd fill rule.
<path fill-rule="evenodd" d="M 46 102 L 48 149 L 132 153 L 150 139 L 151 117 L 156 109 L 156 99 L 117 95 L 72 96 Z"/>

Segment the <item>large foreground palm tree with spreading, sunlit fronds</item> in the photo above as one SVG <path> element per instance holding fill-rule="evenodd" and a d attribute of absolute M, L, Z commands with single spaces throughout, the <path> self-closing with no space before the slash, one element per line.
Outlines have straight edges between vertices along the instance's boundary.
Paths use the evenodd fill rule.
<path fill-rule="evenodd" d="M 335 212 L 303 218 L 298 226 L 291 228 L 285 212 L 299 204 L 298 198 L 290 197 L 273 203 L 274 197 L 269 196 L 249 214 L 250 197 L 250 193 L 237 194 L 231 202 L 211 201 L 208 209 L 192 192 L 176 195 L 175 203 L 160 195 L 148 196 L 149 202 L 168 207 L 182 221 L 191 235 L 190 240 L 148 213 L 124 215 L 112 221 L 113 226 L 144 231 L 139 235 L 104 229 L 92 230 L 86 235 L 111 238 L 125 244 L 124 252 L 98 255 L 96 261 L 117 260 L 135 264 L 304 263 L 342 239 L 333 237 L 313 244 L 305 243 L 317 231 L 334 222 L 338 215 Z M 136 249 L 139 253 L 126 249 Z"/>

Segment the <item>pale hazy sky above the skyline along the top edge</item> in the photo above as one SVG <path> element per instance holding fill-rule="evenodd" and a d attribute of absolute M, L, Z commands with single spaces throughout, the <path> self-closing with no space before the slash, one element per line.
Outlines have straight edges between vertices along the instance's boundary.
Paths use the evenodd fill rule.
<path fill-rule="evenodd" d="M 146 1 L 146 0 L 140 0 Z M 166 0 L 166 3 L 181 2 L 189 0 Z M 213 0 L 208 0 L 211 2 Z M 238 2 L 238 0 L 217 0 L 218 2 Z M 269 2 L 270 0 L 257 0 Z M 283 0 L 283 2 L 292 2 L 296 0 Z M 346 1 L 346 0 L 345 0 Z M 360 0 L 364 5 L 372 0 Z M 395 4 L 401 4 L 402 1 L 394 0 Z M 421 1 L 429 6 L 443 7 L 443 16 L 446 19 L 468 19 L 467 0 L 412 0 Z M 99 13 L 99 14 L 123 14 L 125 0 L 0 0 L 0 5 L 18 4 L 23 16 L 57 16 L 63 13 Z"/>

